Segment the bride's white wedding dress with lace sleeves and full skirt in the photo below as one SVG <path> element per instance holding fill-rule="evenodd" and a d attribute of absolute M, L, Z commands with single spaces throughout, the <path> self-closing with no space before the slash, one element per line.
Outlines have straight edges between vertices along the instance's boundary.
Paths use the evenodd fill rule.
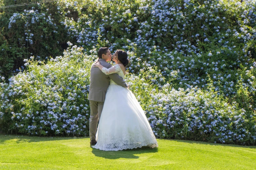
<path fill-rule="evenodd" d="M 117 73 L 124 78 L 124 73 L 118 64 L 109 69 L 104 67 L 102 72 Z M 97 144 L 93 148 L 106 151 L 143 146 L 158 147 L 156 137 L 134 94 L 112 80 L 106 93 L 96 140 Z"/>

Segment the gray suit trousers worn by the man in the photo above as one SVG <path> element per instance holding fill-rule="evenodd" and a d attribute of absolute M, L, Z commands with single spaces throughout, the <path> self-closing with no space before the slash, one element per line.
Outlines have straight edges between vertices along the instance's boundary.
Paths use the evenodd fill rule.
<path fill-rule="evenodd" d="M 96 139 L 97 124 L 98 124 L 98 120 L 100 119 L 103 105 L 104 105 L 104 102 L 97 102 L 97 101 L 90 100 L 90 108 L 91 108 L 90 125 L 89 125 L 90 140 Z"/>

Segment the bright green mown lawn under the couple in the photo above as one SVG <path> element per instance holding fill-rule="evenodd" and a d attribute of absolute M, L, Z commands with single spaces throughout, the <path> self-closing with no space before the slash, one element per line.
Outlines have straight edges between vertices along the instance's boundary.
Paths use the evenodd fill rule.
<path fill-rule="evenodd" d="M 0 169 L 256 169 L 256 147 L 157 139 L 159 147 L 101 151 L 87 137 L 0 135 Z"/>

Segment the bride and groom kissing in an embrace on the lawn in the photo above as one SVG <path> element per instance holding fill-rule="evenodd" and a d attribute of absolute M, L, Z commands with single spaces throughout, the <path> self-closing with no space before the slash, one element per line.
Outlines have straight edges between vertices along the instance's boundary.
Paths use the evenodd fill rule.
<path fill-rule="evenodd" d="M 114 66 L 108 63 L 111 57 Z M 91 67 L 89 134 L 95 149 L 158 147 L 144 110 L 124 81 L 128 63 L 127 52 L 116 50 L 111 55 L 109 48 L 101 47 Z"/>

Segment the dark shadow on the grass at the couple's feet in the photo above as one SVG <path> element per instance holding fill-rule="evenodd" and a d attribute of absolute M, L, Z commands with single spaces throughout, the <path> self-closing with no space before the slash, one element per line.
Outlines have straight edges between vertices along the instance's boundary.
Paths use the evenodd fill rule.
<path fill-rule="evenodd" d="M 136 149 L 125 149 L 118 151 L 104 151 L 99 149 L 92 148 L 92 153 L 97 157 L 102 157 L 106 159 L 119 159 L 119 158 L 127 158 L 127 159 L 138 159 L 139 156 L 135 156 L 135 154 L 141 153 L 155 153 L 158 152 L 157 148 L 136 148 Z"/>

